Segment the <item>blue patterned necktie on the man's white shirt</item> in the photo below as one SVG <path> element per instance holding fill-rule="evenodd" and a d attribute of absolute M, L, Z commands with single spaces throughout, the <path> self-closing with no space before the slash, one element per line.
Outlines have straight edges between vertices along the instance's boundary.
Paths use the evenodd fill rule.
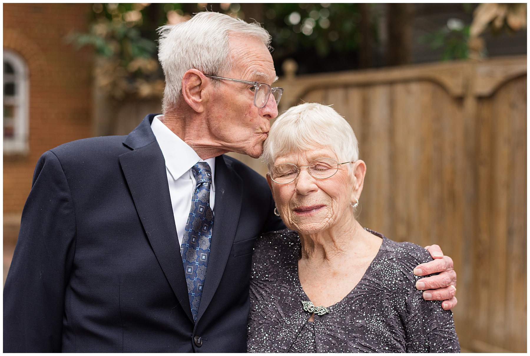
<path fill-rule="evenodd" d="M 191 314 L 197 321 L 202 288 L 210 254 L 211 230 L 214 213 L 210 209 L 211 170 L 206 162 L 191 167 L 197 187 L 191 198 L 191 209 L 186 223 L 180 254 L 184 265 Z"/>

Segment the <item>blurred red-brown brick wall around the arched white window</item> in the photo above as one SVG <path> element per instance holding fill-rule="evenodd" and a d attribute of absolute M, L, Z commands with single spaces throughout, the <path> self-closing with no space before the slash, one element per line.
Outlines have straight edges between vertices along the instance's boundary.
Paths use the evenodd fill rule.
<path fill-rule="evenodd" d="M 90 4 L 4 4 L 4 48 L 19 53 L 29 70 L 29 154 L 4 155 L 4 245 L 31 189 L 40 155 L 90 137 L 91 50 L 65 42 L 87 31 Z M 6 223 L 8 226 L 6 226 Z M 17 230 L 17 229 L 15 229 Z"/>

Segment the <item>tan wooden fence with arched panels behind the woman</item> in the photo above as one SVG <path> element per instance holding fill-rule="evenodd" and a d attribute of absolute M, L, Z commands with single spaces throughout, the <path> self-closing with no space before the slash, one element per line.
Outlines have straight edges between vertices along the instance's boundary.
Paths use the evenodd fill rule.
<path fill-rule="evenodd" d="M 278 86 L 281 110 L 332 104 L 354 128 L 364 227 L 454 259 L 462 348 L 526 352 L 526 56 L 291 75 Z"/>

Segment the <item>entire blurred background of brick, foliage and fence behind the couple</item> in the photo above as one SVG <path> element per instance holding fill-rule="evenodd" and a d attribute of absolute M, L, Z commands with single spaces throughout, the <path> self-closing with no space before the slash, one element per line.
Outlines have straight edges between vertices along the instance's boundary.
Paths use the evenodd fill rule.
<path fill-rule="evenodd" d="M 526 4 L 4 4 L 4 281 L 40 155 L 161 112 L 156 29 L 217 11 L 272 36 L 284 97 L 333 105 L 364 227 L 455 262 L 464 352 L 526 352 Z M 231 154 L 232 155 L 232 154 Z M 259 160 L 233 154 L 264 175 Z"/>

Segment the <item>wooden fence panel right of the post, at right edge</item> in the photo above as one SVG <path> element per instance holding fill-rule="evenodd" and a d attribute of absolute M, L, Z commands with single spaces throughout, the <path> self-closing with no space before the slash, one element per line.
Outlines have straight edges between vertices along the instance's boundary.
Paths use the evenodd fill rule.
<path fill-rule="evenodd" d="M 478 202 L 478 249 L 488 255 L 476 303 L 482 325 L 477 339 L 502 348 L 526 351 L 526 76 L 502 86 L 480 101 L 479 120 L 486 129 L 479 190 L 490 198 Z M 489 156 L 489 158 L 488 158 Z M 484 183 L 485 181 L 485 183 Z M 489 240 L 486 242 L 486 240 Z M 484 244 L 484 245 L 482 245 Z M 476 265 L 485 274 L 485 264 Z"/>

